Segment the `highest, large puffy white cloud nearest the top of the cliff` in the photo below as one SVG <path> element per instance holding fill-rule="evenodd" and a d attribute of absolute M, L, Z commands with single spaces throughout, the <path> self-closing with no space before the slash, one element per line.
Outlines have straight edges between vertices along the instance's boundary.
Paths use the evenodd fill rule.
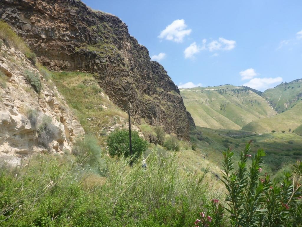
<path fill-rule="evenodd" d="M 183 41 L 186 35 L 190 35 L 191 29 L 185 29 L 187 25 L 185 20 L 175 20 L 172 24 L 168 25 L 164 30 L 161 31 L 158 38 L 172 40 L 174 42 L 180 43 Z"/>

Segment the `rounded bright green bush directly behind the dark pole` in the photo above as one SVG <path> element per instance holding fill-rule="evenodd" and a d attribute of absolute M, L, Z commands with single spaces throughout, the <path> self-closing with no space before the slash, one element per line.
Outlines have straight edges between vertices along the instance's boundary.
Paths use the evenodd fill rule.
<path fill-rule="evenodd" d="M 147 148 L 147 142 L 136 131 L 131 132 L 133 158 L 137 159 Z M 108 153 L 114 156 L 130 156 L 129 131 L 114 130 L 108 135 Z"/>

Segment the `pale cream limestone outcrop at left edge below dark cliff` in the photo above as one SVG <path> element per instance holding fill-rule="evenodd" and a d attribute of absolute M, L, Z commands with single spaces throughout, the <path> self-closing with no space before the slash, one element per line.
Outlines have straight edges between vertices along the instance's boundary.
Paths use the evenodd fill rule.
<path fill-rule="evenodd" d="M 4 43 L 0 45 L 0 74 L 0 164 L 6 160 L 18 165 L 21 156 L 32 151 L 70 151 L 72 141 L 83 136 L 84 130 L 56 87 L 50 88 L 51 82 L 42 80 L 38 107 L 38 94 L 25 77 L 41 75 L 24 54 Z M 43 138 L 46 126 L 51 133 Z"/>

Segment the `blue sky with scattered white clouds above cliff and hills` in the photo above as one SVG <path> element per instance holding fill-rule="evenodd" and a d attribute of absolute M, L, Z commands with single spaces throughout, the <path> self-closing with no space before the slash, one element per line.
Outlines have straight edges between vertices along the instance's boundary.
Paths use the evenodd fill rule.
<path fill-rule="evenodd" d="M 302 78 L 300 0 L 83 2 L 124 21 L 179 87 L 264 91 Z"/>

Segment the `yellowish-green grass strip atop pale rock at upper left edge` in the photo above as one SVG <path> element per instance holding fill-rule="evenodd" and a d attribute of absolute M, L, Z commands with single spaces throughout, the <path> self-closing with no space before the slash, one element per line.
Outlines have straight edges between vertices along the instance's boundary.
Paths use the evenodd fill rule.
<path fill-rule="evenodd" d="M 25 57 L 31 59 L 34 63 L 36 62 L 36 54 L 34 54 L 11 27 L 2 20 L 0 20 L 0 38 L 3 39 L 5 44 L 17 48 Z"/>

